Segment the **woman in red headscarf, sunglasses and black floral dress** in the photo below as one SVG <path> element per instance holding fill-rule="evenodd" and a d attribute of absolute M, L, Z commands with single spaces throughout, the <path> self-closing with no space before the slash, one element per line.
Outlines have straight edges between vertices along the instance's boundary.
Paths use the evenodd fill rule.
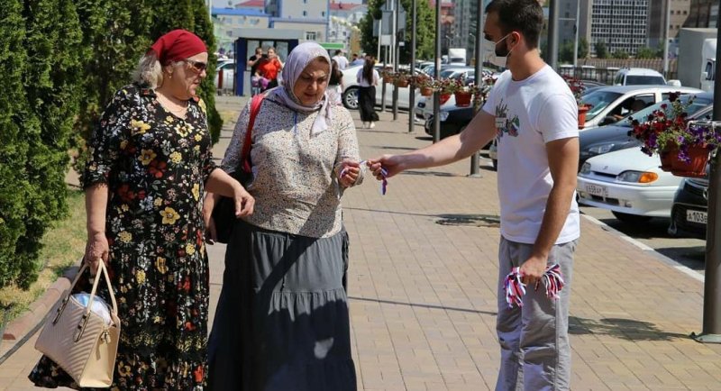
<path fill-rule="evenodd" d="M 90 272 L 105 262 L 122 330 L 112 389 L 198 390 L 205 387 L 208 259 L 202 195 L 235 199 L 239 214 L 253 200 L 215 169 L 205 104 L 205 43 L 175 30 L 141 59 L 131 85 L 118 90 L 90 141 L 85 169 Z M 99 295 L 109 302 L 105 285 Z M 30 374 L 36 386 L 78 385 L 43 356 Z"/>

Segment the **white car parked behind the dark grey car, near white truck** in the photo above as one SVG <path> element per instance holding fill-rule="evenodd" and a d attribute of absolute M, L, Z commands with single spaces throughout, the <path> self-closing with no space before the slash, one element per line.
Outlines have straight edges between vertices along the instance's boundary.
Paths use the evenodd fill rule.
<path fill-rule="evenodd" d="M 673 92 L 700 94 L 698 88 L 688 86 L 603 86 L 582 96 L 583 103 L 591 108 L 586 114 L 584 130 L 616 123 L 632 113 L 635 101 L 653 105 L 668 99 Z"/>

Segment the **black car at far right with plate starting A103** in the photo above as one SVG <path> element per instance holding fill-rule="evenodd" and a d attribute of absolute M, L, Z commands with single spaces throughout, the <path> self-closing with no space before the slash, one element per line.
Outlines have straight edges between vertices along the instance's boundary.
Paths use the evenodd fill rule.
<path fill-rule="evenodd" d="M 669 234 L 706 239 L 708 180 L 684 178 L 671 206 Z"/>

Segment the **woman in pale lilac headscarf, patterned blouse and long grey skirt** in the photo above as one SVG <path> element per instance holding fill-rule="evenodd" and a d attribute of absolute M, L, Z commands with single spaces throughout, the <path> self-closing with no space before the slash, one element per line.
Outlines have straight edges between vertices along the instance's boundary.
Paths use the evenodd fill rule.
<path fill-rule="evenodd" d="M 209 341 L 212 390 L 355 390 L 345 291 L 343 191 L 362 180 L 351 114 L 326 92 L 327 51 L 290 52 L 251 133 L 254 213 L 233 227 Z M 225 153 L 233 172 L 249 122 L 242 110 Z M 206 197 L 210 235 L 213 196 Z"/>

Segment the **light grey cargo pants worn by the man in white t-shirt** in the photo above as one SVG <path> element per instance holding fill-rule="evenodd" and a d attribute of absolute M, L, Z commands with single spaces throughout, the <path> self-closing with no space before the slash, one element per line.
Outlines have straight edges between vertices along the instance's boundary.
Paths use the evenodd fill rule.
<path fill-rule="evenodd" d="M 561 298 L 551 300 L 543 284 L 526 286 L 524 306 L 509 308 L 504 280 L 511 268 L 531 255 L 533 244 L 501 237 L 498 249 L 498 317 L 496 331 L 501 346 L 497 391 L 568 390 L 570 387 L 569 298 L 573 252 L 578 241 L 553 246 L 548 264 L 558 263 L 565 286 Z"/>

